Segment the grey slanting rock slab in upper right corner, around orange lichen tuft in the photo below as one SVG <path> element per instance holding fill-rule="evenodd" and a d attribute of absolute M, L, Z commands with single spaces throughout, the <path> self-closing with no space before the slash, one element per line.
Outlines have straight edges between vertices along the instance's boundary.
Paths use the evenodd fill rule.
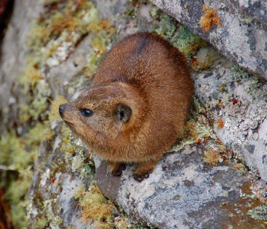
<path fill-rule="evenodd" d="M 263 0 L 151 0 L 234 62 L 267 79 L 267 2 Z M 203 4 L 217 11 L 221 26 L 200 28 Z M 208 17 L 212 17 L 207 15 Z"/>

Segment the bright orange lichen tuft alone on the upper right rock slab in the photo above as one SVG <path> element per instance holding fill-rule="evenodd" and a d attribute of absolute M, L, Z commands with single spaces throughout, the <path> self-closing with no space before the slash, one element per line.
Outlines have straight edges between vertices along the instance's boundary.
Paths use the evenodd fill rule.
<path fill-rule="evenodd" d="M 222 27 L 221 20 L 215 9 L 210 8 L 209 5 L 203 5 L 202 10 L 204 15 L 201 16 L 199 23 L 205 33 L 208 33 L 214 26 Z"/>

